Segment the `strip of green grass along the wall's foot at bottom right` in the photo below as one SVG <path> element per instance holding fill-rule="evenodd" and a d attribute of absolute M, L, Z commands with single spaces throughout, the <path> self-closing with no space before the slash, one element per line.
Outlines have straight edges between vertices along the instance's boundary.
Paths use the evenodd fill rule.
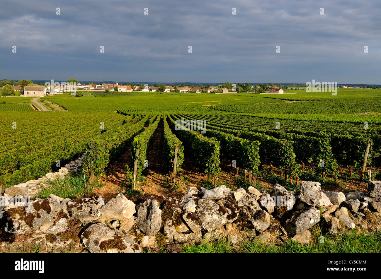
<path fill-rule="evenodd" d="M 279 245 L 265 245 L 255 238 L 247 238 L 239 241 L 236 246 L 226 239 L 204 239 L 201 244 L 183 246 L 182 252 L 186 253 L 367 253 L 381 252 L 381 232 L 365 235 L 356 230 L 351 230 L 343 235 L 325 237 L 320 243 L 315 239 L 309 245 L 299 244 L 295 241 L 285 242 Z"/>

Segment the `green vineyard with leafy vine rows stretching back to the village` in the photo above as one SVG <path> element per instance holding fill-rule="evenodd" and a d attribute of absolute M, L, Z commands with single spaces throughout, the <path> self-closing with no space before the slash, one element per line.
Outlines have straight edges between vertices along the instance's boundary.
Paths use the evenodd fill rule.
<path fill-rule="evenodd" d="M 173 187 L 177 182 L 187 186 L 187 169 L 212 186 L 227 184 L 226 176 L 242 175 L 253 185 L 283 181 L 295 188 L 299 180 L 314 179 L 327 187 L 346 180 L 361 187 L 368 145 L 367 169 L 378 175 L 381 163 L 381 92 L 360 93 L 77 92 L 45 97 L 68 110 L 59 114 L 35 112 L 29 104 L 9 104 L 28 109 L 8 112 L 0 104 L 0 181 L 6 188 L 37 179 L 87 150 L 83 169 L 98 177 L 128 154 L 126 187 L 147 175 L 153 152 L 164 158 L 162 173 Z M 179 125 L 186 120 L 205 121 L 206 129 Z M 153 150 L 159 136 L 162 150 Z"/>

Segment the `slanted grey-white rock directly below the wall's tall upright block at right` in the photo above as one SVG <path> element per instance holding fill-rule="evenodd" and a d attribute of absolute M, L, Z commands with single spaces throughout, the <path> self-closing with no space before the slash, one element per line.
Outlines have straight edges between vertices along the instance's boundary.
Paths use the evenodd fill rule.
<path fill-rule="evenodd" d="M 320 211 L 312 207 L 286 221 L 286 230 L 291 234 L 299 234 L 308 230 L 320 221 Z"/>

